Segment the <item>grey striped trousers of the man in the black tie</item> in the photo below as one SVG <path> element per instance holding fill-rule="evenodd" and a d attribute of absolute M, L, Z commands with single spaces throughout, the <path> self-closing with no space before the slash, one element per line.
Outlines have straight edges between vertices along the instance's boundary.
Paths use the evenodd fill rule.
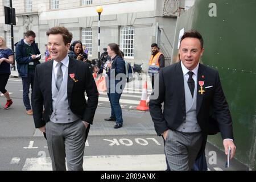
<path fill-rule="evenodd" d="M 203 137 L 200 132 L 183 133 L 168 130 L 164 150 L 171 171 L 191 170 L 200 151 Z"/>

